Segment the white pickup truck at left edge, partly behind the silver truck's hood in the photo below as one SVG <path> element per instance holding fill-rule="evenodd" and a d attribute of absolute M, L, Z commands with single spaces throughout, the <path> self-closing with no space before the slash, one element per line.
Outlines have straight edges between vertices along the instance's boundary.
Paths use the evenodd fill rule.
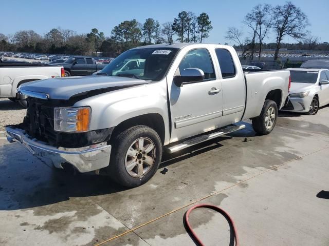
<path fill-rule="evenodd" d="M 26 107 L 24 96 L 16 94 L 16 89 L 29 81 L 64 76 L 61 66 L 44 66 L 28 63 L 6 63 L 0 61 L 0 98 L 8 97 Z"/>

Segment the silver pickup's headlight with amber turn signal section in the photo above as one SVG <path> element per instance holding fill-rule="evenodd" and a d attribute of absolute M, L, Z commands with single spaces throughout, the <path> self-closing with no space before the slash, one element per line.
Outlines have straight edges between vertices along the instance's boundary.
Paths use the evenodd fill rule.
<path fill-rule="evenodd" d="M 87 132 L 92 110 L 83 108 L 54 108 L 54 129 L 59 132 Z"/>

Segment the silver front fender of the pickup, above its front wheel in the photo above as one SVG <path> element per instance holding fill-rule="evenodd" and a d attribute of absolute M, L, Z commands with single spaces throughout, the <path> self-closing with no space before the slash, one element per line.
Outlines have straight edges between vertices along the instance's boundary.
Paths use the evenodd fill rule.
<path fill-rule="evenodd" d="M 78 101 L 74 107 L 92 108 L 90 131 L 118 126 L 136 116 L 157 113 L 169 132 L 167 90 L 158 85 L 142 85 L 99 94 Z"/>

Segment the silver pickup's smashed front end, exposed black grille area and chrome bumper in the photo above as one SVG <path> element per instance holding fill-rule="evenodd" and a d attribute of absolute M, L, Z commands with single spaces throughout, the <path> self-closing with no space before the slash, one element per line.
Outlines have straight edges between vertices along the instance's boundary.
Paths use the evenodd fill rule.
<path fill-rule="evenodd" d="M 32 154 L 51 159 L 62 168 L 68 162 L 79 172 L 89 172 L 108 166 L 111 145 L 108 140 L 113 128 L 87 132 L 54 130 L 54 108 L 71 107 L 70 100 L 28 97 L 27 115 L 23 123 L 7 126 L 8 141 L 23 144 Z"/>

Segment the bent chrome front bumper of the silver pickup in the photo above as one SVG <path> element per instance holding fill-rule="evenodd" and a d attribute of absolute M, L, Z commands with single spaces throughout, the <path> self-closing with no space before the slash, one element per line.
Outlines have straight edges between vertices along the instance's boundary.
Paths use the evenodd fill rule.
<path fill-rule="evenodd" d="M 30 137 L 22 129 L 6 127 L 6 135 L 9 142 L 19 142 L 33 155 L 49 158 L 57 168 L 63 168 L 62 163 L 67 162 L 79 172 L 85 173 L 107 167 L 109 164 L 111 145 L 106 142 L 82 148 L 56 148 Z"/>

